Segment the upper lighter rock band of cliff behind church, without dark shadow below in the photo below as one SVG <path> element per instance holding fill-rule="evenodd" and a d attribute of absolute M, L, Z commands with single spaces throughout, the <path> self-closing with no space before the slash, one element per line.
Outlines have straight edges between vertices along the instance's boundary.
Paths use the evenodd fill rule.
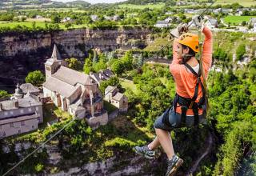
<path fill-rule="evenodd" d="M 117 30 L 67 30 L 52 34 L 13 34 L 0 37 L 0 58 L 21 57 L 21 54 L 22 57 L 29 56 L 38 50 L 50 50 L 54 43 L 58 45 L 64 58 L 82 58 L 91 48 L 116 50 L 146 46 L 149 33 L 149 30 L 142 28 L 120 28 Z M 46 53 L 43 52 L 43 54 Z"/>

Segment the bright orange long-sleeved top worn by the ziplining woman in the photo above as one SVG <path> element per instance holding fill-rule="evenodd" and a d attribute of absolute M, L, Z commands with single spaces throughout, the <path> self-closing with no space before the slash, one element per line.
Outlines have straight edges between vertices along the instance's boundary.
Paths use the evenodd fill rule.
<path fill-rule="evenodd" d="M 207 27 L 204 27 L 202 33 L 205 35 L 205 41 L 202 50 L 202 66 L 203 69 L 205 70 L 207 78 L 212 62 L 213 38 L 211 31 Z M 175 50 L 177 50 L 177 44 L 178 42 L 175 39 L 173 46 L 173 61 L 170 64 L 170 73 L 174 77 L 176 93 L 184 98 L 193 98 L 197 78 L 189 70 L 186 70 L 186 66 L 178 63 L 178 54 L 175 52 Z M 199 86 L 198 88 L 198 98 L 196 99 L 195 102 L 198 102 L 200 98 L 202 98 L 201 86 Z M 182 113 L 180 106 L 177 107 L 176 112 L 178 112 L 179 114 Z M 199 110 L 198 113 L 202 114 L 202 110 Z M 187 110 L 186 114 L 194 115 L 192 109 Z"/>

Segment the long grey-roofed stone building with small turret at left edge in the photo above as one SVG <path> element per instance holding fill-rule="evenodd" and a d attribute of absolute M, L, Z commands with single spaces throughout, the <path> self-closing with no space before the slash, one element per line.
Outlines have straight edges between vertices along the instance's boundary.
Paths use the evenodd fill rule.
<path fill-rule="evenodd" d="M 43 122 L 42 102 L 24 94 L 19 85 L 9 100 L 0 102 L 0 138 L 37 130 Z"/>

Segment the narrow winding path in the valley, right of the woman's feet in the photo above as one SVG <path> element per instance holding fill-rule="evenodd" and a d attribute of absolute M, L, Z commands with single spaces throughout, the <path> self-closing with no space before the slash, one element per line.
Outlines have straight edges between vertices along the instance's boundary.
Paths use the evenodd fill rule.
<path fill-rule="evenodd" d="M 198 159 L 191 166 L 188 173 L 186 173 L 186 176 L 192 175 L 195 172 L 195 170 L 197 170 L 198 165 L 201 162 L 202 158 L 204 158 L 207 154 L 209 154 L 212 144 L 213 144 L 213 135 L 210 133 L 206 141 L 206 151 L 198 157 Z"/>

